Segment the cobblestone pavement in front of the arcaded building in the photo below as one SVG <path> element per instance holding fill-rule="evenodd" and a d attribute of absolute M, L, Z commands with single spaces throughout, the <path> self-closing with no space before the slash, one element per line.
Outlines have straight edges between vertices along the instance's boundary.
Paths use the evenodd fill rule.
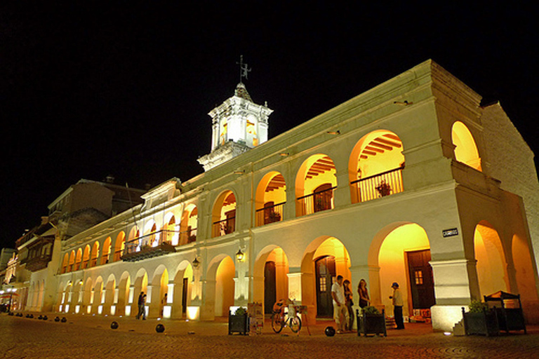
<path fill-rule="evenodd" d="M 453 337 L 429 326 L 408 324 L 387 337 L 341 334 L 326 337 L 332 322 L 302 328 L 299 335 L 284 328 L 274 334 L 265 325 L 260 335 L 227 335 L 217 321 L 135 320 L 66 315 L 67 322 L 0 315 L 0 358 L 539 358 L 539 327 L 528 334 L 500 337 Z M 60 316 L 61 318 L 62 316 Z M 112 330 L 110 324 L 119 327 Z M 157 324 L 164 333 L 157 333 Z"/>

